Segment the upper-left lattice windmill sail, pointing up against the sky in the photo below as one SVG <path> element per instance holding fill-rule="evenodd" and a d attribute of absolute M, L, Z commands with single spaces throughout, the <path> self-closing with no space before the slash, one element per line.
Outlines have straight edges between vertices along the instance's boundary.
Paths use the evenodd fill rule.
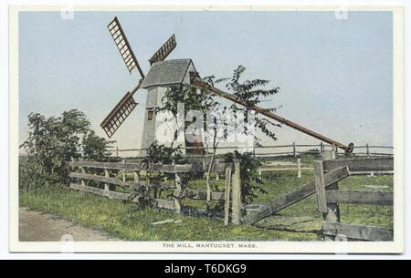
<path fill-rule="evenodd" d="M 114 19 L 107 27 L 109 28 L 114 43 L 119 49 L 121 57 L 129 72 L 132 72 L 132 69 L 134 67 L 137 67 L 137 69 L 140 72 L 140 75 L 142 76 L 142 78 L 144 78 L 142 68 L 140 67 L 139 62 L 137 61 L 137 58 L 135 57 L 134 53 L 132 52 L 132 46 L 130 46 L 129 41 L 127 40 L 127 37 L 125 36 L 124 31 L 122 30 L 117 16 L 114 17 Z"/>

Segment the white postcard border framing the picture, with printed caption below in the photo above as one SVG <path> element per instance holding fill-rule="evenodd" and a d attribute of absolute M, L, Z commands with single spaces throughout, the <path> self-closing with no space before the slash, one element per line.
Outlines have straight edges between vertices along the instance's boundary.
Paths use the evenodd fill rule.
<path fill-rule="evenodd" d="M 62 11 L 64 5 L 14 5 L 9 8 L 9 190 L 10 252 L 67 252 L 64 242 L 18 242 L 18 13 Z M 404 252 L 404 10 L 391 5 L 72 5 L 73 11 L 392 11 L 394 75 L 395 241 L 394 242 L 72 242 L 70 252 L 199 252 L 199 253 L 401 253 Z M 164 243 L 254 243 L 256 248 L 174 247 Z"/>

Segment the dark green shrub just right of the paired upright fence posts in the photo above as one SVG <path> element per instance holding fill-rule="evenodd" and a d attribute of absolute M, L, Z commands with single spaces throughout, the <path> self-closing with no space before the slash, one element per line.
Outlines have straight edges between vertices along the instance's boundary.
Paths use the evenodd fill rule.
<path fill-rule="evenodd" d="M 240 163 L 241 176 L 241 202 L 250 204 L 258 197 L 257 192 L 267 194 L 263 188 L 263 181 L 258 177 L 258 167 L 261 162 L 251 157 L 251 153 L 239 153 L 237 150 L 228 152 L 225 157 L 225 162 L 234 162 L 238 160 Z"/>

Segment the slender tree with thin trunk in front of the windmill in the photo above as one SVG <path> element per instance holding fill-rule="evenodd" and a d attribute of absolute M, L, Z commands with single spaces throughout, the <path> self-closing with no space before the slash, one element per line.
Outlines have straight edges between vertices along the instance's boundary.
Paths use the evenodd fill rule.
<path fill-rule="evenodd" d="M 222 140 L 227 139 L 228 136 L 232 134 L 252 135 L 253 145 L 258 146 L 260 144 L 260 138 L 257 132 L 254 132 L 254 129 L 261 131 L 262 134 L 268 138 L 276 140 L 277 138 L 272 128 L 281 127 L 278 123 L 274 123 L 268 118 L 261 117 L 258 114 L 255 114 L 252 118 L 254 121 L 251 121 L 251 118 L 249 118 L 250 111 L 252 110 L 248 106 L 258 105 L 262 98 L 276 95 L 279 93 L 279 88 L 266 89 L 265 87 L 269 84 L 269 80 L 264 79 L 252 79 L 241 82 L 241 76 L 245 71 L 246 67 L 239 66 L 234 70 L 232 77 L 219 79 L 216 79 L 214 76 L 205 77 L 203 78 L 206 84 L 204 88 L 195 88 L 188 85 L 168 88 L 162 99 L 163 106 L 156 108 L 156 111 L 171 111 L 174 118 L 178 118 L 178 104 L 184 103 L 184 118 L 189 110 L 199 110 L 203 114 L 205 118 L 203 127 L 206 130 L 205 154 L 211 152 L 211 159 L 206 163 L 207 170 L 205 176 L 208 192 L 210 191 L 209 176 L 216 163 L 216 150 Z M 233 102 L 221 108 L 222 103 L 220 99 L 216 98 L 216 95 L 210 90 L 210 88 L 220 83 L 226 83 L 225 87 L 227 90 L 232 92 L 237 99 L 245 101 L 248 106 L 238 106 Z M 277 108 L 269 108 L 267 110 L 275 111 Z M 244 116 L 245 124 L 237 122 L 237 117 L 241 114 Z M 234 119 L 233 122 L 228 122 L 229 119 L 227 118 L 230 115 L 234 117 L 231 118 Z M 184 129 L 177 129 L 174 139 L 177 139 L 177 132 L 190 132 L 190 129 L 187 128 L 193 124 L 194 121 L 195 120 L 184 119 Z M 249 129 L 249 127 L 253 127 L 254 129 Z M 211 145 L 211 149 L 208 149 L 209 145 Z M 208 201 L 210 197 L 211 196 L 207 196 Z"/>

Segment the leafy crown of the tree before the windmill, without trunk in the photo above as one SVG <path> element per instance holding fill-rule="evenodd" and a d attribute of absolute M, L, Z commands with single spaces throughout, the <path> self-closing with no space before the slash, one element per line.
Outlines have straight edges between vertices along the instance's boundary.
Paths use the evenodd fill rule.
<path fill-rule="evenodd" d="M 210 91 L 210 88 L 215 87 L 220 83 L 226 83 L 225 87 L 228 91 L 231 91 L 237 99 L 245 101 L 248 106 L 258 105 L 261 103 L 262 98 L 267 98 L 279 93 L 279 88 L 268 88 L 265 87 L 269 85 L 269 80 L 264 79 L 252 79 L 240 81 L 241 76 L 245 73 L 246 67 L 238 66 L 234 70 L 233 76 L 228 78 L 216 78 L 214 76 L 203 78 L 203 82 L 207 85 L 205 88 L 195 88 L 189 85 L 183 86 L 172 86 L 167 89 L 162 98 L 162 106 L 156 108 L 156 112 L 159 111 L 171 111 L 174 115 L 174 118 L 177 118 L 178 115 L 178 104 L 184 104 L 184 115 L 188 110 L 197 110 L 201 111 L 204 114 L 204 117 L 207 117 L 209 111 L 214 111 L 214 113 L 208 114 L 208 116 L 214 117 L 213 119 L 207 119 L 204 123 L 204 128 L 206 130 L 214 130 L 214 134 L 218 129 L 224 129 L 223 137 L 218 138 L 214 137 L 210 139 L 213 149 L 216 149 L 219 141 L 221 139 L 227 139 L 227 137 L 232 133 L 243 133 L 251 134 L 252 130 L 249 130 L 247 127 L 238 126 L 237 123 L 227 123 L 224 122 L 224 127 L 217 127 L 218 121 L 217 118 L 226 118 L 228 113 L 234 113 L 237 117 L 237 113 L 244 113 L 246 115 L 246 122 L 248 122 L 248 112 L 251 110 L 248 107 L 242 107 L 236 103 L 232 103 L 228 107 L 223 109 L 216 109 L 221 105 L 221 102 L 216 98 L 216 94 Z M 280 106 L 276 108 L 267 108 L 269 111 L 276 111 Z M 180 111 L 182 112 L 182 111 Z M 184 130 L 188 124 L 193 122 L 184 122 Z M 275 123 L 268 118 L 264 118 L 256 115 L 254 128 L 259 129 L 264 135 L 270 139 L 277 139 L 275 133 L 271 128 L 279 128 L 281 125 Z M 178 132 L 178 130 L 177 130 Z M 174 136 L 174 139 L 177 138 L 177 132 Z M 254 133 L 255 134 L 255 133 Z M 259 144 L 260 139 L 255 134 L 256 144 Z"/>

